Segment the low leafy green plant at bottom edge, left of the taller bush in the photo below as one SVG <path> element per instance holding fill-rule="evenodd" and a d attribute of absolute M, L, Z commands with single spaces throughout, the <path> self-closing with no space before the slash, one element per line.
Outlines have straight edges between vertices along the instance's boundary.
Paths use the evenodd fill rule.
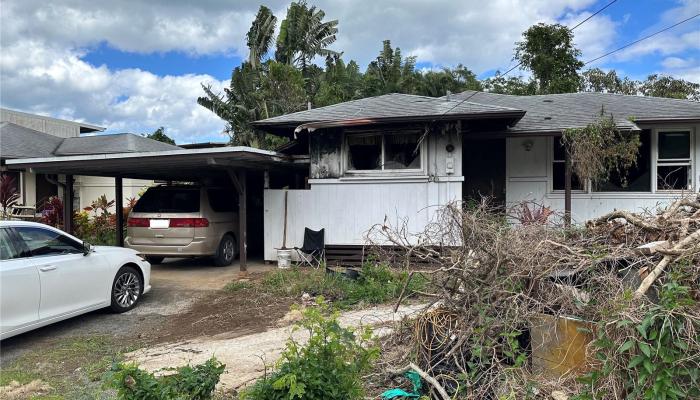
<path fill-rule="evenodd" d="M 226 366 L 216 358 L 204 364 L 170 369 L 156 377 L 135 364 L 115 364 L 107 384 L 120 400 L 208 400 Z"/>

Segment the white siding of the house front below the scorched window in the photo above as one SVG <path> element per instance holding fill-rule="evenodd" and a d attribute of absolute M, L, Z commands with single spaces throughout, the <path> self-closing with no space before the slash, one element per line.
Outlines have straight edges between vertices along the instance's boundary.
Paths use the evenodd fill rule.
<path fill-rule="evenodd" d="M 462 198 L 464 180 L 461 136 L 437 134 L 426 142 L 421 176 L 346 175 L 310 179 L 310 189 L 288 190 L 286 246 L 301 247 L 305 227 L 324 228 L 326 243 L 337 245 L 365 244 L 368 230 L 385 219 L 393 226 L 405 223 L 409 233 L 423 231 L 440 206 Z M 454 146 L 451 154 L 446 151 L 447 144 Z M 453 159 L 450 173 L 449 157 Z M 265 260 L 276 260 L 276 249 L 282 247 L 284 193 L 265 190 Z"/>

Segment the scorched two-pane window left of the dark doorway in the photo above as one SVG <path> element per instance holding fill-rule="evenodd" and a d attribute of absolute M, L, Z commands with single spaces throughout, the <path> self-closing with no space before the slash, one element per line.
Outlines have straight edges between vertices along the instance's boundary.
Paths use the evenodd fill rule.
<path fill-rule="evenodd" d="M 419 170 L 418 134 L 349 135 L 348 169 L 351 171 Z"/>

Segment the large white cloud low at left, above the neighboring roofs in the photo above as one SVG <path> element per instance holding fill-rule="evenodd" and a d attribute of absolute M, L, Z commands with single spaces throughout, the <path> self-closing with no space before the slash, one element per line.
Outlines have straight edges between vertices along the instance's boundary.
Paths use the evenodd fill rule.
<path fill-rule="evenodd" d="M 79 53 L 39 42 L 3 46 L 0 71 L 1 100 L 10 108 L 87 121 L 111 132 L 149 133 L 163 125 L 178 143 L 211 138 L 223 127 L 196 103 L 200 82 L 215 90 L 227 83 L 209 75 L 111 71 L 82 61 Z"/>

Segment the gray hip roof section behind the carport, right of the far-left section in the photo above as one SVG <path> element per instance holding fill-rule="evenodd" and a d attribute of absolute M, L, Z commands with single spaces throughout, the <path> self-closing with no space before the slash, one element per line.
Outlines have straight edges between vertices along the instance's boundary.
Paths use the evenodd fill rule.
<path fill-rule="evenodd" d="M 180 147 L 159 142 L 133 133 L 95 135 L 66 138 L 54 155 L 74 156 L 80 154 L 136 153 L 150 151 L 180 150 Z"/>

